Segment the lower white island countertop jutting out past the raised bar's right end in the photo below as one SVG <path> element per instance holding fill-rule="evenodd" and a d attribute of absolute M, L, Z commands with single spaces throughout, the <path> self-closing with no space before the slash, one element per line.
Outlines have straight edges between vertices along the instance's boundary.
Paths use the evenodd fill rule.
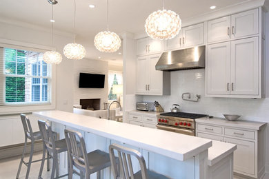
<path fill-rule="evenodd" d="M 215 165 L 237 149 L 237 145 L 212 140 L 212 147 L 208 149 L 208 165 Z"/>

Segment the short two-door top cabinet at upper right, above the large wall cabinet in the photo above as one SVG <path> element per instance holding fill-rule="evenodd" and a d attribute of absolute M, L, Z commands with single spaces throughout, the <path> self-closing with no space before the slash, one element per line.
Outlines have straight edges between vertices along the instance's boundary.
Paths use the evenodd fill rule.
<path fill-rule="evenodd" d="M 259 33 L 258 9 L 208 21 L 208 43 Z"/>

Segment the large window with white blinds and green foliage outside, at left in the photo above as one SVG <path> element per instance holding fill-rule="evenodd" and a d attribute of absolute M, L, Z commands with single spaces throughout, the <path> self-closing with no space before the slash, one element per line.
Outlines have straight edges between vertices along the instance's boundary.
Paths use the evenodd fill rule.
<path fill-rule="evenodd" d="M 43 52 L 0 48 L 0 105 L 50 103 L 50 70 Z"/>

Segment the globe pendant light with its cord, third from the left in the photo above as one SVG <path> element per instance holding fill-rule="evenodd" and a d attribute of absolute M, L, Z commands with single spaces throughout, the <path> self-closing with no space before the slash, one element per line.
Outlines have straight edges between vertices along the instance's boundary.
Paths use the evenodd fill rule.
<path fill-rule="evenodd" d="M 107 0 L 108 4 L 108 0 Z M 108 29 L 108 7 L 106 12 L 107 29 Z M 109 30 L 99 32 L 94 37 L 94 45 L 100 52 L 116 52 L 121 47 L 121 39 L 119 36 Z"/>

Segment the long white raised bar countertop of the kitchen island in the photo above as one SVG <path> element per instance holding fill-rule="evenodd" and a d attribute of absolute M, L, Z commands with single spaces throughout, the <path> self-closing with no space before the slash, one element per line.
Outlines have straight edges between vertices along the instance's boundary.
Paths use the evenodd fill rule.
<path fill-rule="evenodd" d="M 35 116 L 61 123 L 92 134 L 133 145 L 177 160 L 187 160 L 212 146 L 212 140 L 118 123 L 113 120 L 83 116 L 69 112 L 34 112 Z"/>

